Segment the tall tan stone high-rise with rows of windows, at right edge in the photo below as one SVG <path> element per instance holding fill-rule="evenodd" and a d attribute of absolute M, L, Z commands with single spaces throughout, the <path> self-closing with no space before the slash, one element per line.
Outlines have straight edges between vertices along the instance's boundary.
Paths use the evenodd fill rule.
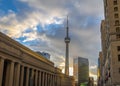
<path fill-rule="evenodd" d="M 118 86 L 120 85 L 120 0 L 103 1 L 105 20 L 101 22 L 102 86 Z"/>

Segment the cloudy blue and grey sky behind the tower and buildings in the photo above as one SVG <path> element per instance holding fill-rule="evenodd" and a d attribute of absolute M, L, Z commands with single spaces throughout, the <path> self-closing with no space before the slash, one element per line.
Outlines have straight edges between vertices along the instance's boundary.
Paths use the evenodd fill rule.
<path fill-rule="evenodd" d="M 73 59 L 89 59 L 96 79 L 101 50 L 102 0 L 0 0 L 0 32 L 33 51 L 47 52 L 56 67 L 64 69 L 66 17 L 69 20 L 70 74 Z"/>

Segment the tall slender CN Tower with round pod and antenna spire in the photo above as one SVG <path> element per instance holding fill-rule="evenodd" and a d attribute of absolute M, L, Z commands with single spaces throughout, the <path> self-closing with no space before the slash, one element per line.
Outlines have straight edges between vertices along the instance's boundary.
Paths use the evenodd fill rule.
<path fill-rule="evenodd" d="M 70 37 L 69 37 L 68 17 L 67 17 L 65 43 L 66 43 L 65 74 L 69 75 L 69 43 L 70 43 Z"/>

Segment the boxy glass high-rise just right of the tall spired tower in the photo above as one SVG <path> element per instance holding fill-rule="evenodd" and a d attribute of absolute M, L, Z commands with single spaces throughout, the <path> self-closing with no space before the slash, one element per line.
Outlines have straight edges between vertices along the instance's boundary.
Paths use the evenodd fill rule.
<path fill-rule="evenodd" d="M 76 86 L 82 83 L 88 83 L 89 79 L 89 62 L 88 59 L 78 57 L 74 59 L 73 74 L 75 77 Z"/>

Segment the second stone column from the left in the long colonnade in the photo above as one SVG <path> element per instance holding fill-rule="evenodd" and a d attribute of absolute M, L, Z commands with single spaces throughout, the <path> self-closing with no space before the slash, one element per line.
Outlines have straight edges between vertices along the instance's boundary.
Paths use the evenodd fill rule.
<path fill-rule="evenodd" d="M 10 62 L 8 86 L 13 86 L 14 62 Z"/>

